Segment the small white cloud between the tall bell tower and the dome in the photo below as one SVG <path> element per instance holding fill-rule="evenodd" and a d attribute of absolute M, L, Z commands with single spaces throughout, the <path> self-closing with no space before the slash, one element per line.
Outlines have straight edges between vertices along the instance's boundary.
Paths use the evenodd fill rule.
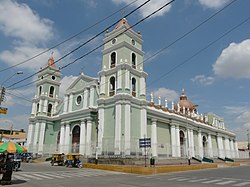
<path fill-rule="evenodd" d="M 178 98 L 178 93 L 176 91 L 167 88 L 159 88 L 152 93 L 154 98 L 161 97 L 162 99 L 167 99 L 168 101 L 174 101 Z"/>

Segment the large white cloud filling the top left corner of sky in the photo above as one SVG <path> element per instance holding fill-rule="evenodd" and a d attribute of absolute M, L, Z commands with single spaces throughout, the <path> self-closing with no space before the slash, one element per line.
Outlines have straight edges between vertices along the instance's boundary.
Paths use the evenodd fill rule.
<path fill-rule="evenodd" d="M 41 19 L 26 4 L 2 0 L 0 4 L 0 30 L 6 36 L 24 42 L 43 42 L 53 36 L 53 22 Z"/>

